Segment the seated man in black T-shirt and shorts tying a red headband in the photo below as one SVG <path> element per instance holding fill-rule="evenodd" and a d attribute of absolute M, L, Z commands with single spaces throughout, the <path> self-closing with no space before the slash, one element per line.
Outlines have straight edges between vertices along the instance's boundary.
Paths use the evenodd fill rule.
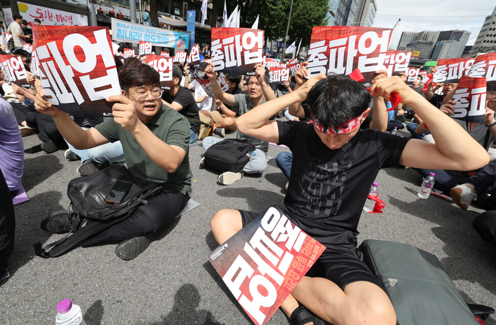
<path fill-rule="evenodd" d="M 393 92 L 429 124 L 436 144 L 360 129 L 370 112 L 370 93 L 390 98 Z M 320 74 L 237 119 L 244 134 L 291 149 L 294 157 L 283 210 L 327 247 L 281 305 L 291 324 L 322 324 L 322 319 L 335 325 L 396 324 L 382 284 L 355 253 L 358 221 L 379 169 L 401 164 L 467 170 L 489 161 L 480 144 L 398 77 L 376 79 L 370 93 L 346 77 Z M 305 98 L 310 123 L 268 120 Z M 226 241 L 258 214 L 218 211 L 211 221 L 215 239 Z"/>

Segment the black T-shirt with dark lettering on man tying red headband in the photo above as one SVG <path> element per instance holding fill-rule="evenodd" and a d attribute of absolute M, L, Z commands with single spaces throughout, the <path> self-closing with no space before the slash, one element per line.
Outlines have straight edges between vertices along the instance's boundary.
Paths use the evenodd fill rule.
<path fill-rule="evenodd" d="M 362 208 L 379 169 L 399 165 L 410 138 L 360 129 L 342 148 L 331 150 L 313 124 L 277 123 L 279 143 L 293 153 L 284 200 L 287 216 L 323 245 L 335 243 L 326 242 L 329 233 L 357 234 Z"/>

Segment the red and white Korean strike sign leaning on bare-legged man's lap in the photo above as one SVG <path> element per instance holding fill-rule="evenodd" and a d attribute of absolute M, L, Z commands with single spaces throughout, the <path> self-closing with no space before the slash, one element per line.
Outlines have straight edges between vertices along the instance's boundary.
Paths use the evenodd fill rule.
<path fill-rule="evenodd" d="M 324 250 L 271 206 L 208 258 L 253 322 L 263 325 Z"/>

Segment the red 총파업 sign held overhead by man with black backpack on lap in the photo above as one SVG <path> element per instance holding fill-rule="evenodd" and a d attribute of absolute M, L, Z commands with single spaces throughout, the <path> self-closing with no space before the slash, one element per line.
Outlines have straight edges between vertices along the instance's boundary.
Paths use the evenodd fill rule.
<path fill-rule="evenodd" d="M 263 34 L 249 28 L 212 28 L 214 70 L 255 76 L 255 65 L 262 62 Z"/>

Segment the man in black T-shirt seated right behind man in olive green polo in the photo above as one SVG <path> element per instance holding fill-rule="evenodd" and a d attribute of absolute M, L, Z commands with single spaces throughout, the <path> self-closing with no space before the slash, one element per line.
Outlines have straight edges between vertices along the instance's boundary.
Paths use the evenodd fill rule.
<path fill-rule="evenodd" d="M 177 65 L 172 65 L 172 82 L 174 87 L 169 91 L 164 91 L 162 94 L 162 101 L 164 104 L 172 107 L 186 118 L 200 119 L 198 115 L 198 106 L 196 106 L 195 98 L 191 91 L 180 85 L 183 79 L 183 71 Z M 200 132 L 200 125 L 196 122 L 190 121 L 190 143 L 198 139 Z"/>

